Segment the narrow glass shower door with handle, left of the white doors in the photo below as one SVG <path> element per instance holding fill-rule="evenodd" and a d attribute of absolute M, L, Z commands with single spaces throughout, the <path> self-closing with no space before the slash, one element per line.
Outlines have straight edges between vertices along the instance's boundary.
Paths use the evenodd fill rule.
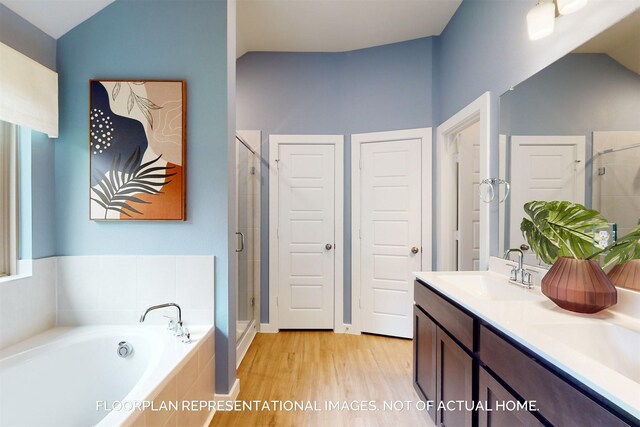
<path fill-rule="evenodd" d="M 255 320 L 255 156 L 236 140 L 236 255 L 238 265 L 238 314 L 236 339 L 240 340 Z"/>

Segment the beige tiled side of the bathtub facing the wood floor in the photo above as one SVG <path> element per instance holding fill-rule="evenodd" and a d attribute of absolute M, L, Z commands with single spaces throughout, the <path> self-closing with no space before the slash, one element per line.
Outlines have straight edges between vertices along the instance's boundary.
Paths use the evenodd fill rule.
<path fill-rule="evenodd" d="M 202 427 L 213 418 L 207 409 L 187 410 L 182 402 L 214 400 L 214 339 L 213 329 L 202 344 L 180 366 L 165 378 L 152 393 L 150 400 L 159 408 L 162 402 L 178 402 L 179 410 L 152 411 L 146 409 L 128 419 L 125 427 Z M 206 423 L 206 424 L 205 424 Z"/>

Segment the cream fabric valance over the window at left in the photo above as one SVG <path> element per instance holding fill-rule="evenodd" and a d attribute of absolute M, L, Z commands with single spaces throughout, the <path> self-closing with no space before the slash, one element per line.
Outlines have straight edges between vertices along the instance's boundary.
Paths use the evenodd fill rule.
<path fill-rule="evenodd" d="M 58 73 L 3 43 L 0 120 L 58 136 Z"/>

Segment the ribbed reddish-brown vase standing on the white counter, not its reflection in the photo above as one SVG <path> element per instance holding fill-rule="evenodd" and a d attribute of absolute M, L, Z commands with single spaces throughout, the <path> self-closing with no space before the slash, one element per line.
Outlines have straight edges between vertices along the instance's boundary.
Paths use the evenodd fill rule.
<path fill-rule="evenodd" d="M 597 313 L 618 300 L 616 287 L 593 260 L 560 257 L 542 278 L 542 293 L 577 313 Z"/>

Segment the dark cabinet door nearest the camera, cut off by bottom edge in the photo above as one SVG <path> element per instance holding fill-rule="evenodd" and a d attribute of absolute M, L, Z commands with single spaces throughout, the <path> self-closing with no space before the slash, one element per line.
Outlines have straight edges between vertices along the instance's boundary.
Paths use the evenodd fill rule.
<path fill-rule="evenodd" d="M 509 411 L 504 402 L 517 402 L 517 399 L 502 387 L 487 371 L 480 368 L 479 403 L 485 410 L 478 411 L 479 427 L 537 427 L 543 424 L 528 411 Z"/>

